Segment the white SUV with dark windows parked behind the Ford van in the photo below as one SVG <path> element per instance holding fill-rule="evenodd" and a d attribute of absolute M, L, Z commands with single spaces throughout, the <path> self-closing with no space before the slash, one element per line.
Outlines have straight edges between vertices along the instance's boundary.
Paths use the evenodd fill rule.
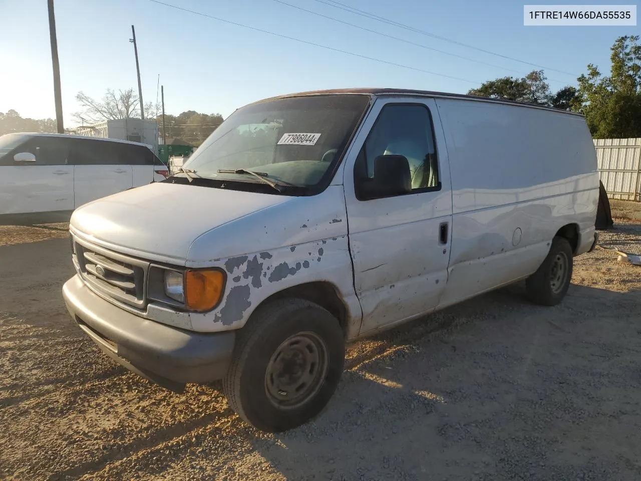
<path fill-rule="evenodd" d="M 146 144 L 58 133 L 0 137 L 0 223 L 68 221 L 101 197 L 164 180 Z"/>

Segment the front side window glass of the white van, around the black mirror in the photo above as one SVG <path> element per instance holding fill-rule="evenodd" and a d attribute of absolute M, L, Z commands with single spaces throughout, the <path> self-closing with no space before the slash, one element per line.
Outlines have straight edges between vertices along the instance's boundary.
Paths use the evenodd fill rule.
<path fill-rule="evenodd" d="M 410 165 L 412 190 L 438 189 L 438 164 L 432 121 L 424 105 L 383 107 L 356 161 L 354 178 L 372 178 L 379 155 L 403 155 Z"/>

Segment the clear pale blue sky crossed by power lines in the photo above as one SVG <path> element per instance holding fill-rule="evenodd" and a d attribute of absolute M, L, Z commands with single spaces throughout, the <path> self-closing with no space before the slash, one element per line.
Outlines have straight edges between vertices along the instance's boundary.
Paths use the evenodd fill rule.
<path fill-rule="evenodd" d="M 108 88 L 137 90 L 133 45 L 129 43 L 132 24 L 138 41 L 143 98 L 156 101 L 160 74 L 165 111 L 176 115 L 196 110 L 226 116 L 254 100 L 311 89 L 395 87 L 464 93 L 485 80 L 523 76 L 537 68 L 345 12 L 329 6 L 329 0 L 283 1 L 495 67 L 381 37 L 275 0 L 163 1 L 306 42 L 464 80 L 275 37 L 151 0 L 56 0 L 65 127 L 75 124 L 71 114 L 79 110 L 74 99 L 79 90 L 97 98 Z M 576 77 L 586 71 L 588 63 L 609 71 L 610 46 L 615 38 L 638 33 L 638 26 L 525 27 L 523 3 L 513 0 L 338 1 L 440 37 L 544 65 L 553 90 L 576 85 Z M 0 19 L 0 112 L 14 109 L 22 117 L 54 117 L 46 0 L 0 0 Z"/>

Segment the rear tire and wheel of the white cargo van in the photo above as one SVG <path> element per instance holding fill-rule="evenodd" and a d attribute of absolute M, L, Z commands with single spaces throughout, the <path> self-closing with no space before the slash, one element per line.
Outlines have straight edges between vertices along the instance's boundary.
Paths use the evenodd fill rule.
<path fill-rule="evenodd" d="M 570 242 L 564 237 L 554 237 L 547 257 L 526 280 L 529 299 L 544 306 L 560 303 L 572 280 L 572 259 Z"/>

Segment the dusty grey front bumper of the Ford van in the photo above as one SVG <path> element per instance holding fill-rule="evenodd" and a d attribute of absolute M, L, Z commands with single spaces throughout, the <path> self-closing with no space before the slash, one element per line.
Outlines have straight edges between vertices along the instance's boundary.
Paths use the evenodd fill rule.
<path fill-rule="evenodd" d="M 172 391 L 221 379 L 236 333 L 197 333 L 131 314 L 91 291 L 78 275 L 62 288 L 71 317 L 122 366 Z"/>

